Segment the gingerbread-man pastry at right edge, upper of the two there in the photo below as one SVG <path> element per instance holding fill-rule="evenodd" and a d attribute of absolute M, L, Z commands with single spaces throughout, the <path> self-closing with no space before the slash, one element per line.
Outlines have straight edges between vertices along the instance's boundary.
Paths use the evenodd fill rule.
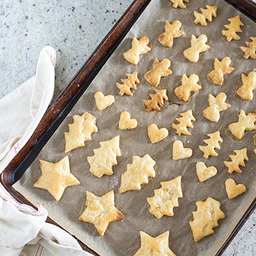
<path fill-rule="evenodd" d="M 256 89 L 256 72 L 250 72 L 248 76 L 242 74 L 243 85 L 237 90 L 239 95 L 244 100 L 252 100 L 253 90 Z"/>

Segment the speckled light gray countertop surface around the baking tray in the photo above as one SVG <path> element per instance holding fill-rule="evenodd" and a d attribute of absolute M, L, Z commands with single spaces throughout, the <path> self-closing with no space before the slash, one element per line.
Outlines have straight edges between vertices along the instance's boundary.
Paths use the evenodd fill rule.
<path fill-rule="evenodd" d="M 131 3 L 132 0 L 2 0 L 0 99 L 35 75 L 38 56 L 45 45 L 57 52 L 56 98 Z M 256 211 L 224 256 L 256 255 L 255 223 Z"/>

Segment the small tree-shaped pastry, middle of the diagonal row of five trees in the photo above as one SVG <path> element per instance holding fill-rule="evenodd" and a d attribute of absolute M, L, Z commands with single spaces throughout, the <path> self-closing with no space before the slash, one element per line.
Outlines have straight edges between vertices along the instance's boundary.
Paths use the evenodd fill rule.
<path fill-rule="evenodd" d="M 192 121 L 195 121 L 196 118 L 193 116 L 192 110 L 189 109 L 187 112 L 180 113 L 181 117 L 175 118 L 179 124 L 172 124 L 173 129 L 177 130 L 177 134 L 191 135 L 188 131 L 189 128 L 193 128 Z"/>

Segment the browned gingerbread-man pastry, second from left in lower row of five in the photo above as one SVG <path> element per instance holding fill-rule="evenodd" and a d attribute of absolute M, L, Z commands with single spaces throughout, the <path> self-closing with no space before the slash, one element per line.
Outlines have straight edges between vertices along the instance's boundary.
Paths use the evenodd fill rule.
<path fill-rule="evenodd" d="M 159 85 L 162 76 L 169 76 L 172 74 L 172 70 L 168 69 L 171 65 L 171 61 L 164 59 L 161 62 L 154 58 L 153 69 L 149 70 L 145 75 L 146 81 L 152 86 Z"/>

